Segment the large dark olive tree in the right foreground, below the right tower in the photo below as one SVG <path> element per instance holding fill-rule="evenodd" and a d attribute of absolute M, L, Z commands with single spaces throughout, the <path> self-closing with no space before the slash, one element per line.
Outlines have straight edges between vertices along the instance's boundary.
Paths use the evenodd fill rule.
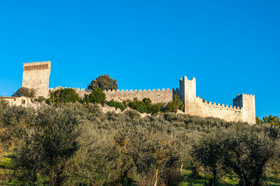
<path fill-rule="evenodd" d="M 239 185 L 260 185 L 265 166 L 279 153 L 275 141 L 279 135 L 270 135 L 267 131 L 271 129 L 251 126 L 214 129 L 194 145 L 193 157 L 211 169 L 211 183 L 216 183 L 217 173 L 230 169 L 239 176 Z"/>

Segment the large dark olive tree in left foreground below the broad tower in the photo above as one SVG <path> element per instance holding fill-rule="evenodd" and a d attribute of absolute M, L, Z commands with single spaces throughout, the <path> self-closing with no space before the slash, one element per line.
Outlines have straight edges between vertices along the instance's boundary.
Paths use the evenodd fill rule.
<path fill-rule="evenodd" d="M 76 130 L 80 120 L 73 108 L 39 108 L 33 121 L 25 123 L 13 159 L 15 176 L 33 183 L 38 175 L 52 185 L 64 183 L 66 161 L 78 150 Z"/>

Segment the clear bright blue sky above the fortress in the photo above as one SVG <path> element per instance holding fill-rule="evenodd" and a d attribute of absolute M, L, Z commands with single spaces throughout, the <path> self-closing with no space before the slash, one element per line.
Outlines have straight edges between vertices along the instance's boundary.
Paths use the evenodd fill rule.
<path fill-rule="evenodd" d="M 256 115 L 280 112 L 280 1 L 1 1 L 0 95 L 22 85 L 22 63 L 51 61 L 50 87 L 179 87 L 232 105 L 255 94 Z"/>

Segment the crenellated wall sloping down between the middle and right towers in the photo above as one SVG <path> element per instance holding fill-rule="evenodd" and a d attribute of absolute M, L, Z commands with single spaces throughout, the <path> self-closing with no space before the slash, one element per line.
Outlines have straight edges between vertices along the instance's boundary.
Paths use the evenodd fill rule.
<path fill-rule="evenodd" d="M 203 99 L 196 97 L 195 109 L 192 115 L 200 117 L 218 117 L 228 122 L 230 121 L 242 121 L 243 108 L 239 106 L 228 106 L 221 103 L 215 103 L 211 101 L 204 101 Z"/>

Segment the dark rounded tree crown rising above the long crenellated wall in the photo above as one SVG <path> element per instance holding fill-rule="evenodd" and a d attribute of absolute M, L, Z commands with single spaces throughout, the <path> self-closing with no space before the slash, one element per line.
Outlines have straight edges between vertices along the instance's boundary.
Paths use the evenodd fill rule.
<path fill-rule="evenodd" d="M 100 88 L 102 90 L 117 90 L 118 84 L 117 80 L 110 78 L 109 75 L 102 75 L 96 78 L 96 80 L 92 80 L 87 88 L 89 90 L 94 90 L 94 88 Z"/>

